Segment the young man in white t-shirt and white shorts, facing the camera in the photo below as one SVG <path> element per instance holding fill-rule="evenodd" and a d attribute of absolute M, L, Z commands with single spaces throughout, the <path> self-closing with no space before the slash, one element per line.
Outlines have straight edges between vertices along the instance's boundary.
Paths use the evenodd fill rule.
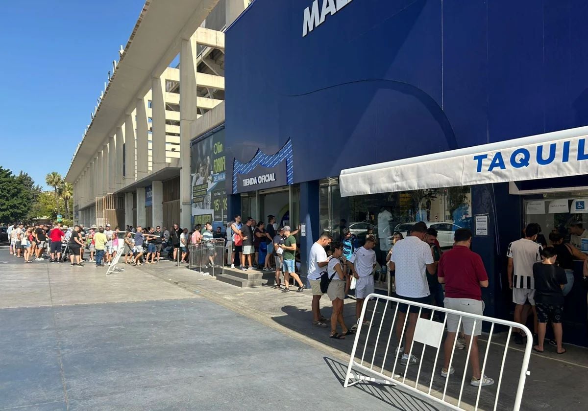
<path fill-rule="evenodd" d="M 356 324 L 351 329 L 358 329 L 359 318 L 362 315 L 363 302 L 368 295 L 372 294 L 373 288 L 373 269 L 376 267 L 376 253 L 372 250 L 376 246 L 376 236 L 373 234 L 366 235 L 366 242 L 363 247 L 359 247 L 353 252 L 347 262 L 351 269 L 355 282 L 355 316 Z M 369 321 L 364 321 L 363 325 L 369 325 Z"/>

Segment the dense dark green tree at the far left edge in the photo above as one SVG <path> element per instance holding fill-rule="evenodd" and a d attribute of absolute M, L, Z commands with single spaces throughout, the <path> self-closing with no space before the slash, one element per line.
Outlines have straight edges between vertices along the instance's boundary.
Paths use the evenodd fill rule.
<path fill-rule="evenodd" d="M 9 224 L 29 216 L 41 187 L 26 173 L 15 175 L 0 166 L 0 221 Z"/>

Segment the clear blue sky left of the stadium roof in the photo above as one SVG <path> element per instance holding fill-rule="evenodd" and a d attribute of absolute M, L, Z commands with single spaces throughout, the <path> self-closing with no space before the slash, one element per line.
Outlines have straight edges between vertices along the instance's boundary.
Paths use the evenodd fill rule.
<path fill-rule="evenodd" d="M 65 176 L 145 0 L 0 4 L 0 165 Z"/>

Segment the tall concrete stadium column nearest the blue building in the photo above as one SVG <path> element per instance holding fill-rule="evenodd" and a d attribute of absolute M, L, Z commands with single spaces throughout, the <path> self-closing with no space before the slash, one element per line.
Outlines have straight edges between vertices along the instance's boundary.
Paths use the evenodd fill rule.
<path fill-rule="evenodd" d="M 198 118 L 196 105 L 196 35 L 182 39 L 180 49 L 180 226 L 192 223 L 191 123 Z"/>

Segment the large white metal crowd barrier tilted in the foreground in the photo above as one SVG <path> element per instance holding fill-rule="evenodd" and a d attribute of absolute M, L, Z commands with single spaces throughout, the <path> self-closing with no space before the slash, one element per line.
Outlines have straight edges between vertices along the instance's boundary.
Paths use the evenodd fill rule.
<path fill-rule="evenodd" d="M 367 319 L 370 321 L 370 325 L 362 326 L 362 323 L 366 321 L 366 310 L 368 309 L 368 305 L 372 304 L 372 302 L 369 302 L 370 298 L 372 301 L 375 300 L 371 314 L 368 313 L 369 318 Z M 400 338 L 396 339 L 395 327 L 397 326 L 399 303 L 407 304 L 409 305 L 409 308 L 410 306 L 416 306 L 419 309 L 419 318 L 417 319 L 415 336 L 412 343 L 410 344 L 410 350 L 408 354 L 410 359 L 410 356 L 413 355 L 415 343 L 420 343 L 423 345 L 422 351 L 420 352 L 420 362 L 418 363 L 416 375 L 415 372 L 413 372 L 415 365 L 412 365 L 412 368 L 409 369 L 411 366 L 410 361 L 407 362 L 406 365 L 399 364 L 402 352 L 398 352 L 399 349 L 396 347 L 402 346 L 402 342 L 405 341 L 406 326 L 409 324 L 409 315 L 407 312 L 407 315 L 403 320 L 404 323 L 402 326 L 402 332 L 400 333 Z M 381 309 L 383 309 L 382 312 L 379 311 Z M 429 309 L 431 311 L 430 318 L 433 318 L 435 313 L 445 313 L 443 322 L 421 318 L 423 309 Z M 389 313 L 393 313 L 393 316 L 389 315 Z M 482 378 L 490 369 L 492 369 L 493 372 L 492 376 L 496 376 L 494 372 L 497 371 L 497 365 L 500 365 L 500 369 L 497 382 L 495 382 L 495 384 L 492 386 L 485 386 L 483 388 L 484 395 L 482 402 L 480 402 L 482 385 L 478 386 L 477 388 L 472 387 L 476 393 L 474 393 L 473 390 L 464 390 L 466 374 L 470 374 L 468 365 L 470 352 L 472 350 L 473 338 L 470 339 L 469 345 L 466 346 L 467 355 L 465 358 L 465 366 L 463 368 L 463 376 L 460 378 L 460 383 L 458 380 L 457 385 L 455 384 L 455 380 L 458 376 L 456 361 L 454 359 L 457 338 L 455 338 L 453 341 L 448 368 L 448 370 L 450 370 L 452 366 L 455 366 L 455 373 L 447 373 L 446 377 L 442 377 L 440 375 L 442 366 L 437 368 L 439 351 L 443 346 L 442 340 L 447 322 L 447 314 L 455 314 L 459 316 L 459 321 L 457 323 L 458 331 L 462 325 L 463 318 L 473 319 L 473 329 L 476 328 L 476 324 L 478 324 L 479 321 L 488 323 L 490 325 L 490 332 L 487 334 L 486 349 L 484 353 L 482 352 L 483 344 L 480 342 L 484 341 L 482 338 L 484 338 L 485 335 L 482 334 L 478 340 L 480 355 L 483 353 L 484 356 L 484 361 L 481 368 Z M 496 340 L 500 338 L 500 336 L 503 336 L 503 333 L 500 333 L 499 337 L 496 337 L 495 331 L 497 330 L 495 329 L 495 325 L 508 328 L 506 333 L 506 341 L 493 341 L 493 339 Z M 524 352 L 519 349 L 513 349 L 509 346 L 510 336 L 512 335 L 513 328 L 522 329 L 527 336 Z M 366 329 L 367 332 L 365 332 Z M 398 343 L 398 341 L 401 343 Z M 392 346 L 390 343 L 392 343 Z M 469 314 L 463 311 L 455 311 L 453 309 L 440 308 L 433 305 L 420 304 L 417 302 L 406 301 L 400 298 L 386 297 L 385 295 L 370 294 L 366 299 L 365 304 L 363 304 L 362 314 L 359 319 L 355 341 L 353 342 L 353 350 L 351 352 L 351 358 L 349 359 L 349 366 L 344 386 L 347 388 L 363 381 L 382 383 L 392 386 L 400 385 L 414 392 L 420 393 L 429 399 L 443 403 L 443 405 L 446 405 L 447 407 L 455 410 L 493 409 L 496 411 L 497 409 L 512 409 L 514 411 L 519 411 L 523 397 L 524 383 L 526 377 L 529 375 L 528 368 L 532 345 L 532 333 L 526 326 L 520 325 L 516 322 L 505 321 L 502 319 L 496 319 L 482 315 Z M 426 352 L 427 347 L 432 349 L 429 349 L 429 352 Z M 392 350 L 392 352 L 390 352 L 390 350 Z M 432 355 L 428 355 L 431 352 Z M 358 353 L 361 355 L 359 356 Z M 505 392 L 502 392 L 505 394 L 503 397 L 510 396 L 509 398 L 513 400 L 512 408 L 510 408 L 511 405 L 508 399 L 499 404 L 499 397 L 501 393 L 500 389 L 503 386 L 503 373 L 505 370 L 507 353 L 510 354 L 509 364 L 512 365 L 514 361 L 520 360 L 520 372 L 518 373 L 518 379 L 516 381 L 507 380 L 505 385 Z M 358 355 L 357 358 L 356 355 Z M 512 359 L 513 356 L 516 356 L 517 358 Z M 393 361 L 391 361 L 390 358 L 393 358 Z M 501 361 L 496 362 L 495 359 L 501 359 Z M 389 361 L 389 363 L 386 363 L 386 361 Z M 425 369 L 423 369 L 423 363 L 426 363 Z M 429 366 L 432 367 L 429 369 Z M 365 372 L 368 375 L 354 373 L 353 368 Z M 518 366 L 516 368 L 518 369 Z M 374 378 L 369 376 L 369 374 L 375 375 L 379 378 Z M 436 376 L 438 376 L 437 381 L 435 378 Z M 513 389 L 516 389 L 514 393 L 512 392 Z M 493 397 L 490 396 L 491 393 L 495 393 Z M 473 403 L 474 399 L 475 404 Z M 466 400 L 469 400 L 472 403 L 468 403 Z M 509 404 L 505 402 L 508 402 Z M 467 408 L 464 408 L 464 406 Z"/>

